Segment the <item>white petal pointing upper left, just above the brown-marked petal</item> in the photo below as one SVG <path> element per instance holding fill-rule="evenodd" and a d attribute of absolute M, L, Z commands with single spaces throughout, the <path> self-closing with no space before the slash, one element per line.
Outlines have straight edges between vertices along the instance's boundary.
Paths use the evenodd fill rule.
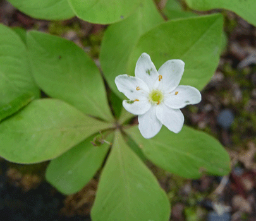
<path fill-rule="evenodd" d="M 125 94 L 130 100 L 142 99 L 149 96 L 149 88 L 140 78 L 129 75 L 116 76 L 114 83 L 118 87 L 119 92 Z"/>

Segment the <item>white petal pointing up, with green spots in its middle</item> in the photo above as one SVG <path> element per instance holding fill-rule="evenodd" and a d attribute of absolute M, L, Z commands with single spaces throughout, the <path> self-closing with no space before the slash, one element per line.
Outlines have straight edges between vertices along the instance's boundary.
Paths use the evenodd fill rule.
<path fill-rule="evenodd" d="M 155 83 L 158 81 L 158 73 L 152 63 L 149 54 L 143 53 L 137 61 L 135 67 L 135 76 L 143 80 L 149 90 L 154 88 Z"/>

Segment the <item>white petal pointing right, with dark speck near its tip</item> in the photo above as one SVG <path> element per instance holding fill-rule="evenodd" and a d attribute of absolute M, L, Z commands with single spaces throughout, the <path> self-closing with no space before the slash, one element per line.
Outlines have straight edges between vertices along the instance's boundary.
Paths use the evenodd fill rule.
<path fill-rule="evenodd" d="M 173 92 L 164 95 L 164 104 L 173 109 L 180 109 L 188 104 L 198 104 L 201 99 L 197 88 L 180 85 Z"/>

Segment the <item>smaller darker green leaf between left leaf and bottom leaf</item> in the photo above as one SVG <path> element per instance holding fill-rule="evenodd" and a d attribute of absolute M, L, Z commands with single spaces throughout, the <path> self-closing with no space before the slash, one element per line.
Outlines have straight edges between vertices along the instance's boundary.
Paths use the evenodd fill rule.
<path fill-rule="evenodd" d="M 101 167 L 109 145 L 94 146 L 94 136 L 74 146 L 71 150 L 51 161 L 46 179 L 63 194 L 73 194 L 85 186 Z M 112 140 L 111 140 L 112 141 Z"/>

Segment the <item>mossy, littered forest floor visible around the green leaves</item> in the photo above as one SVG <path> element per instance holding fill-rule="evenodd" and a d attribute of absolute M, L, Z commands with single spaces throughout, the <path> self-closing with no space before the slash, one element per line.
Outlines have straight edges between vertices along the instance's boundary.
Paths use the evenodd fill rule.
<path fill-rule="evenodd" d="M 231 157 L 225 177 L 183 179 L 152 164 L 171 201 L 171 220 L 256 220 L 256 28 L 230 11 L 219 66 L 202 102 L 183 109 L 186 124 L 221 141 Z M 106 25 L 73 18 L 42 21 L 0 0 L 0 23 L 72 40 L 97 63 Z M 90 220 L 99 174 L 79 193 L 64 196 L 44 179 L 47 162 L 9 163 L 0 158 L 0 220 Z"/>

